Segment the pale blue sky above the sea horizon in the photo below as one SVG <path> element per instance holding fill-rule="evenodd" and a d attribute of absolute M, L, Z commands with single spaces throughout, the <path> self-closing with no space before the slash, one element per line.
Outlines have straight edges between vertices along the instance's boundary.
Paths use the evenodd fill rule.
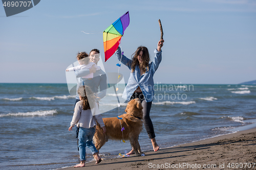
<path fill-rule="evenodd" d="M 130 25 L 121 40 L 126 57 L 139 45 L 154 58 L 164 31 L 155 83 L 237 84 L 256 79 L 256 2 L 44 0 L 6 17 L 0 7 L 0 83 L 65 83 L 65 69 L 79 51 L 101 51 L 102 32 L 126 11 Z M 93 33 L 93 34 L 84 34 Z M 112 56 L 104 68 L 117 72 Z M 130 70 L 120 72 L 125 80 Z"/>

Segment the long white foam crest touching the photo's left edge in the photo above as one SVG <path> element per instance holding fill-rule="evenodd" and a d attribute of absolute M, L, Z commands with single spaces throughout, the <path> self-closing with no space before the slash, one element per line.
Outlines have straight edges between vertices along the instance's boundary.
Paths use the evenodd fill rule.
<path fill-rule="evenodd" d="M 26 113 L 8 113 L 8 114 L 0 114 L 0 117 L 4 116 L 48 116 L 57 113 L 57 110 L 38 110 L 35 112 L 26 112 Z"/>

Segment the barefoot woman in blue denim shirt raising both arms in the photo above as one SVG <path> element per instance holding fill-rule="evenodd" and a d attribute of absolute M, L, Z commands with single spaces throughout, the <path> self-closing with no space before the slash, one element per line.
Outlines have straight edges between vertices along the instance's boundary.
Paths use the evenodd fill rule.
<path fill-rule="evenodd" d="M 120 47 L 117 48 L 116 56 L 118 60 L 126 65 L 131 70 L 131 75 L 128 83 L 124 89 L 122 98 L 130 101 L 139 98 L 143 106 L 143 123 L 151 139 L 154 151 L 159 150 L 159 146 L 155 139 L 154 127 L 150 118 L 150 109 L 152 101 L 154 100 L 154 80 L 153 76 L 162 60 L 163 40 L 158 42 L 157 49 L 155 49 L 154 60 L 150 63 L 150 54 L 145 46 L 139 46 L 133 54 L 132 59 L 121 55 Z M 127 155 L 134 154 L 130 151 Z"/>

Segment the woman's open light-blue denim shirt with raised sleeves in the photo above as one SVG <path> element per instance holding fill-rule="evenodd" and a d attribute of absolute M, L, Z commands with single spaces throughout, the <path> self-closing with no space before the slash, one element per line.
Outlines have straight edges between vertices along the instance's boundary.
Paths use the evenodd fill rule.
<path fill-rule="evenodd" d="M 135 70 L 131 72 L 128 83 L 124 89 L 122 98 L 130 101 L 131 96 L 134 91 L 140 86 L 140 89 L 144 95 L 144 99 L 146 102 L 152 102 L 154 100 L 154 80 L 153 76 L 162 60 L 162 50 L 159 52 L 155 49 L 155 58 L 153 62 L 151 62 L 148 66 L 148 70 L 140 76 L 140 68 L 139 65 L 135 66 Z M 115 52 L 117 59 L 120 61 L 121 59 L 121 50 L 120 47 Z M 122 61 L 124 65 L 126 65 L 130 70 L 132 69 L 132 60 L 122 55 Z"/>

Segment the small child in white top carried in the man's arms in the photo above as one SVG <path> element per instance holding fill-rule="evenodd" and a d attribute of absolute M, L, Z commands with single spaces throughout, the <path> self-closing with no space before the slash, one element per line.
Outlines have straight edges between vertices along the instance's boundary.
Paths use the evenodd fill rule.
<path fill-rule="evenodd" d="M 89 55 L 86 52 L 78 53 L 76 56 L 78 63 L 80 65 L 76 67 L 70 67 L 66 69 L 66 71 L 76 71 L 80 69 L 91 69 L 92 67 L 95 67 L 96 70 L 100 70 L 100 66 L 97 66 L 94 62 L 89 62 Z M 87 76 L 84 76 L 82 78 L 93 78 L 93 72 L 88 74 Z"/>

